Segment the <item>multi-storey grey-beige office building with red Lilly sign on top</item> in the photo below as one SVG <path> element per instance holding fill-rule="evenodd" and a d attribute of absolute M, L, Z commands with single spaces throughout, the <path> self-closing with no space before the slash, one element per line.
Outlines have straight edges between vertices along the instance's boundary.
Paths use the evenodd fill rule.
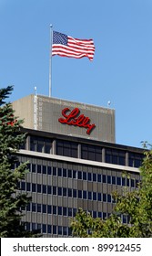
<path fill-rule="evenodd" d="M 105 219 L 115 205 L 112 192 L 136 189 L 143 150 L 116 144 L 115 110 L 38 95 L 13 107 L 28 134 L 16 164 L 29 163 L 20 185 L 32 196 L 26 229 L 71 237 L 78 208 Z"/>

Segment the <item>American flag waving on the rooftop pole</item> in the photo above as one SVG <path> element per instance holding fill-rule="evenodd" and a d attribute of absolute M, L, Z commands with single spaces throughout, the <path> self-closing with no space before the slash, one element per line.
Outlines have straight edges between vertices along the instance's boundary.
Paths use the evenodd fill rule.
<path fill-rule="evenodd" d="M 52 56 L 80 59 L 87 57 L 93 60 L 95 46 L 93 39 L 77 39 L 53 31 Z"/>

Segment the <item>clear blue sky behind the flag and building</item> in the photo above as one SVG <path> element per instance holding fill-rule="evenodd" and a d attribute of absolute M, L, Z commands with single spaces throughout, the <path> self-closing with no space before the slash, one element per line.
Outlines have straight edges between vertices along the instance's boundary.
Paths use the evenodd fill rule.
<path fill-rule="evenodd" d="M 152 144 L 151 0 L 0 0 L 0 87 L 48 95 L 49 26 L 93 38 L 87 58 L 52 59 L 52 96 L 116 110 L 117 144 Z"/>

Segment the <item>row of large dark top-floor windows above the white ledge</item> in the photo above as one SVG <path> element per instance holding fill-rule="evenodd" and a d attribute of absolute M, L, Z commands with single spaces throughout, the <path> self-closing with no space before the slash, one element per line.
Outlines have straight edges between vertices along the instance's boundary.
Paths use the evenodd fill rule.
<path fill-rule="evenodd" d="M 29 136 L 30 150 L 35 152 L 42 152 L 51 154 L 53 140 L 38 137 Z M 80 157 L 86 160 L 92 160 L 97 162 L 106 162 L 114 165 L 126 165 L 139 167 L 143 161 L 143 154 L 128 153 L 128 161 L 126 162 L 126 152 L 123 150 L 105 148 L 105 159 L 103 159 L 103 147 L 99 145 L 80 144 Z M 22 148 L 26 148 L 25 145 Z M 78 157 L 78 143 L 69 142 L 64 140 L 56 140 L 56 155 L 64 155 L 69 157 Z"/>

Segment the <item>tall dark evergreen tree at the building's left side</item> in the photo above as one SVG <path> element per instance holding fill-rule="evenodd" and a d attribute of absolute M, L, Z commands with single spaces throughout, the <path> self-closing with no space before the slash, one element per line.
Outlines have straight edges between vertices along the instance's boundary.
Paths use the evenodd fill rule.
<path fill-rule="evenodd" d="M 26 164 L 14 169 L 18 162 L 15 156 L 25 142 L 25 134 L 20 133 L 22 120 L 17 120 L 10 102 L 6 102 L 13 91 L 12 86 L 0 90 L 0 237 L 36 237 L 37 231 L 25 230 L 21 219 L 21 208 L 31 197 L 22 193 L 19 182 L 25 179 Z"/>

